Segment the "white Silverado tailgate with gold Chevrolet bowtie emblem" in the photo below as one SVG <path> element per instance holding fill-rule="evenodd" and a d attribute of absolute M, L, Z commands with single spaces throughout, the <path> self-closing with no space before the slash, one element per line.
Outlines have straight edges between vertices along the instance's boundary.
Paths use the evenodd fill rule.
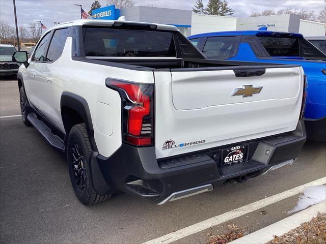
<path fill-rule="evenodd" d="M 301 67 L 249 77 L 231 69 L 154 75 L 157 158 L 293 131 L 300 116 Z"/>

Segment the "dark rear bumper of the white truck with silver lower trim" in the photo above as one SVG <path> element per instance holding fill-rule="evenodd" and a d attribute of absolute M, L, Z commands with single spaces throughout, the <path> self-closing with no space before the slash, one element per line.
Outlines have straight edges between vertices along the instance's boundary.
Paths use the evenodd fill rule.
<path fill-rule="evenodd" d="M 92 174 L 97 180 L 93 185 L 99 194 L 104 194 L 105 185 L 110 185 L 162 204 L 210 191 L 230 180 L 256 177 L 277 165 L 291 164 L 299 156 L 305 141 L 306 132 L 301 120 L 293 132 L 244 142 L 249 144 L 249 160 L 223 167 L 219 166 L 220 159 L 216 155 L 221 148 L 230 145 L 157 160 L 155 147 L 123 144 L 110 158 L 94 157 Z M 100 178 L 103 180 L 98 180 Z"/>

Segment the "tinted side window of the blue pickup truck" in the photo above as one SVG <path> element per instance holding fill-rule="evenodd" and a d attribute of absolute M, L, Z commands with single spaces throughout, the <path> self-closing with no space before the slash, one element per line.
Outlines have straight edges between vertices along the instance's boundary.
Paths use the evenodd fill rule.
<path fill-rule="evenodd" d="M 235 56 L 239 37 L 208 37 L 203 53 L 207 58 L 228 59 Z"/>

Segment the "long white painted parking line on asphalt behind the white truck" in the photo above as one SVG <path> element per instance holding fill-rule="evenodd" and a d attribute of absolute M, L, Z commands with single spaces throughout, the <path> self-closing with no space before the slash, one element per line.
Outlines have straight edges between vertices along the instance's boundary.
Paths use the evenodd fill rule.
<path fill-rule="evenodd" d="M 326 177 L 322 177 L 320 179 L 308 182 L 307 184 L 292 188 L 290 190 L 281 192 L 279 194 L 276 194 L 274 196 L 270 196 L 261 200 L 258 200 L 256 202 L 250 203 L 248 205 L 233 209 L 231 211 L 225 212 L 222 215 L 215 216 L 213 218 L 210 218 L 208 220 L 204 220 L 202 222 L 199 222 L 197 224 L 185 227 L 183 229 L 177 230 L 175 232 L 172 232 L 170 234 L 158 237 L 156 239 L 149 240 L 147 242 L 144 242 L 143 244 L 166 244 L 171 243 L 173 241 L 179 240 L 181 238 L 184 238 L 186 236 L 195 234 L 197 232 L 203 231 L 205 229 L 208 229 L 212 226 L 216 226 L 219 224 L 222 224 L 224 222 L 230 221 L 232 219 L 238 218 L 242 215 L 249 214 L 250 212 L 253 212 L 257 209 L 260 209 L 262 207 L 268 206 L 270 204 L 276 203 L 278 201 L 281 201 L 285 198 L 294 196 L 298 193 L 301 193 L 305 188 L 312 187 L 312 186 L 319 186 L 326 184 Z"/>

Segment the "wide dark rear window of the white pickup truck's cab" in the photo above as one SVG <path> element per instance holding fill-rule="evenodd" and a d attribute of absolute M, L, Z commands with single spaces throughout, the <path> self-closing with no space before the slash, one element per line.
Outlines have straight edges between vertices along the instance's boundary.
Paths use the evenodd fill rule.
<path fill-rule="evenodd" d="M 86 56 L 104 57 L 175 57 L 171 32 L 130 29 L 84 29 Z"/>

